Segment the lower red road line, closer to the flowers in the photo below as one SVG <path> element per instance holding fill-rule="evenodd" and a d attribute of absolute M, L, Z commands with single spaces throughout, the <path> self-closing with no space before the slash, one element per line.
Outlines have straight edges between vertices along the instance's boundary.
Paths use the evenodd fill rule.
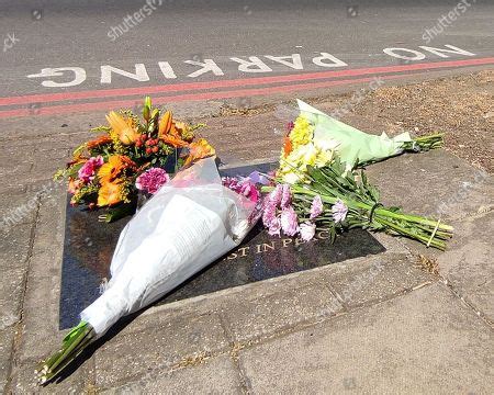
<path fill-rule="evenodd" d="M 388 79 L 398 79 L 406 78 L 409 76 L 422 76 L 424 72 L 415 72 L 407 75 L 394 75 L 394 76 L 383 76 L 384 80 Z M 227 99 L 227 98 L 240 98 L 249 95 L 263 95 L 270 93 L 280 92 L 291 92 L 299 90 L 310 90 L 318 88 L 327 88 L 341 84 L 360 83 L 372 81 L 373 78 L 359 78 L 359 79 L 346 79 L 346 80 L 333 80 L 333 81 L 322 81 L 322 82 L 310 82 L 310 83 L 297 83 L 291 86 L 274 86 L 267 88 L 256 88 L 256 89 L 242 89 L 232 91 L 217 91 L 217 92 L 201 92 L 201 93 L 187 93 L 169 97 L 157 97 L 153 99 L 155 104 L 165 103 L 177 103 L 183 101 L 200 101 L 200 100 L 211 100 L 211 99 Z M 41 108 L 36 115 L 61 115 L 72 112 L 86 112 L 86 111 L 98 111 L 98 110 L 111 110 L 119 108 L 130 108 L 135 104 L 133 100 L 117 100 L 117 101 L 105 101 L 105 102 L 91 102 L 91 103 L 78 103 L 78 104 L 67 104 L 67 105 L 50 105 L 46 108 Z M 0 111 L 0 119 L 12 117 L 12 116 L 33 116 L 30 109 L 16 109 L 16 110 L 3 110 Z"/>

